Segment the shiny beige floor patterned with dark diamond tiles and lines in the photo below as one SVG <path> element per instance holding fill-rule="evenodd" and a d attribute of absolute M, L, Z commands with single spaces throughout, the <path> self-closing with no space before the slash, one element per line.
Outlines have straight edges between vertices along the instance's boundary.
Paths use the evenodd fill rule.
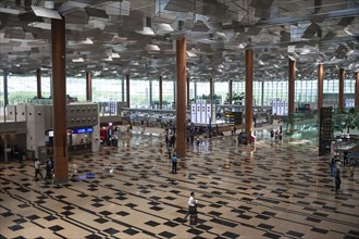
<path fill-rule="evenodd" d="M 178 174 L 159 158 L 163 139 L 140 134 L 72 156 L 66 185 L 35 181 L 32 162 L 0 164 L 0 238 L 359 238 L 358 167 L 342 169 L 335 199 L 317 144 L 265 136 L 188 149 Z M 183 222 L 190 191 L 196 226 Z"/>

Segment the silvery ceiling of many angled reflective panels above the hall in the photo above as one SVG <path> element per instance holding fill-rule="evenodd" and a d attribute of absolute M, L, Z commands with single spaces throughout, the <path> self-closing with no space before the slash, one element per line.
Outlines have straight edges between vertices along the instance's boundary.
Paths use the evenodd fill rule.
<path fill-rule="evenodd" d="M 36 7 L 65 17 L 67 76 L 173 79 L 182 37 L 201 81 L 244 80 L 248 48 L 259 81 L 287 78 L 289 58 L 300 80 L 318 63 L 325 77 L 359 70 L 358 0 L 0 0 L 2 72 L 51 74 L 51 20 Z"/>

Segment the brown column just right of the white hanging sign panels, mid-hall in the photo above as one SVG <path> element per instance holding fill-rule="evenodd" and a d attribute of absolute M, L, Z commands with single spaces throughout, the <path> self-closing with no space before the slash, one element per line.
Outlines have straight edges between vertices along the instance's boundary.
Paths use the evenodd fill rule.
<path fill-rule="evenodd" d="M 251 141 L 253 130 L 253 50 L 246 50 L 246 123 L 245 129 L 248 134 L 248 142 Z"/>

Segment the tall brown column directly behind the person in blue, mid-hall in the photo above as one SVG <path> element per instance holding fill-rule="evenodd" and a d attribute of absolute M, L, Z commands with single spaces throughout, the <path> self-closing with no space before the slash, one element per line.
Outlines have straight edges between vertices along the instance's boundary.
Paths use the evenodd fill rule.
<path fill-rule="evenodd" d="M 186 38 L 176 40 L 176 153 L 186 155 Z"/>

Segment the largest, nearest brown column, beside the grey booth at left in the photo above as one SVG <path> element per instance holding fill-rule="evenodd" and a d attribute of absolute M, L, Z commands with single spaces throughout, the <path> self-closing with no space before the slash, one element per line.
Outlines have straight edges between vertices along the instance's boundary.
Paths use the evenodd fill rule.
<path fill-rule="evenodd" d="M 53 160 L 57 184 L 69 181 L 65 20 L 51 20 Z"/>

